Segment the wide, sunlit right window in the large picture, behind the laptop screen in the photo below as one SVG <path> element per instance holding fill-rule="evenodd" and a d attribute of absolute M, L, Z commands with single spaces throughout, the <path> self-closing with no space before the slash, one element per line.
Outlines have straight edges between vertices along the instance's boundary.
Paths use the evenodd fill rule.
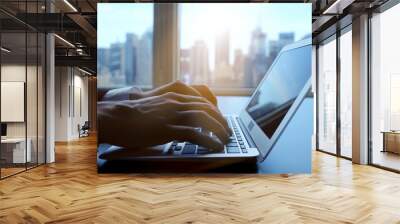
<path fill-rule="evenodd" d="M 277 14 L 283 8 L 288 13 Z M 179 4 L 178 78 L 217 92 L 251 90 L 282 47 L 310 35 L 309 24 L 299 20 L 308 10 L 302 4 Z"/>

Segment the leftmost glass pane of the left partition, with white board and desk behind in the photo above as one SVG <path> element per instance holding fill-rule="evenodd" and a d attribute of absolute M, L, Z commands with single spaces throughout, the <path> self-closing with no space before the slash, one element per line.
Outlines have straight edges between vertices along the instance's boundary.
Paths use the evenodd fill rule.
<path fill-rule="evenodd" d="M 25 170 L 26 151 L 26 34 L 1 34 L 1 122 L 7 127 L 1 140 L 2 177 Z M 5 49 L 5 50 L 4 50 Z"/>

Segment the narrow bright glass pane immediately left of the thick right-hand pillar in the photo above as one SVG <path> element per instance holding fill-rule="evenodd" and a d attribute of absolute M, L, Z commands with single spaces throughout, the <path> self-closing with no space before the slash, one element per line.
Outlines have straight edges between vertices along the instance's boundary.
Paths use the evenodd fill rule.
<path fill-rule="evenodd" d="M 352 33 L 340 36 L 340 153 L 352 157 Z"/>

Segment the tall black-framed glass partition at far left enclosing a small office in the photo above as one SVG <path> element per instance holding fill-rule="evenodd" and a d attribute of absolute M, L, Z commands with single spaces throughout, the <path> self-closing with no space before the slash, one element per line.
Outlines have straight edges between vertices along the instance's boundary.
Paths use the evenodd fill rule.
<path fill-rule="evenodd" d="M 44 1 L 1 2 L 3 6 L 17 13 L 44 12 Z M 2 12 L 0 26 L 0 178 L 5 178 L 45 162 L 46 39 Z"/>

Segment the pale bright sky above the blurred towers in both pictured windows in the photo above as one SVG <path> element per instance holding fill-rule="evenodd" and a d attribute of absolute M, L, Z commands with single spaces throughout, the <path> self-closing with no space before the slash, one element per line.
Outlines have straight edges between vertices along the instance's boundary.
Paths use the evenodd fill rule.
<path fill-rule="evenodd" d="M 311 25 L 304 23 L 311 21 L 311 4 L 179 3 L 178 5 L 180 27 L 184 29 L 184 32 L 180 32 L 180 44 L 183 48 L 191 46 L 198 38 L 204 39 L 209 46 L 212 46 L 219 31 L 229 31 L 231 35 L 237 36 L 232 40 L 232 45 L 244 49 L 250 39 L 246 35 L 239 34 L 249 33 L 256 26 L 266 31 L 271 39 L 277 39 L 280 32 L 294 32 L 295 40 L 299 40 L 311 32 Z M 153 8 L 153 3 L 99 3 L 98 47 L 109 47 L 111 43 L 118 41 L 125 42 L 126 33 L 142 35 L 152 30 Z M 223 15 L 221 12 L 224 12 Z"/>

